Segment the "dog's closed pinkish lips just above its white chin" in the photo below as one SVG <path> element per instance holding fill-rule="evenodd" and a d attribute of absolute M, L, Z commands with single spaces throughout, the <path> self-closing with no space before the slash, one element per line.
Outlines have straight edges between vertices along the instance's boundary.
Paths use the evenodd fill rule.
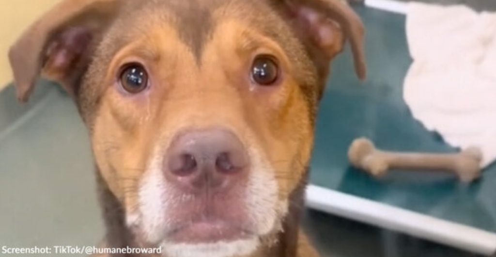
<path fill-rule="evenodd" d="M 246 239 L 255 234 L 234 222 L 198 220 L 179 226 L 167 233 L 166 238 L 177 243 L 215 243 Z"/>

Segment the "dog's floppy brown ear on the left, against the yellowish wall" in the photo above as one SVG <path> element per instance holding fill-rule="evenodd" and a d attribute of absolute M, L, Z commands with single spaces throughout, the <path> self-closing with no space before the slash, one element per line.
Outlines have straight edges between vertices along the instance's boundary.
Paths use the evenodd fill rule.
<path fill-rule="evenodd" d="M 28 100 L 40 73 L 74 94 L 91 47 L 117 13 L 119 0 L 63 0 L 43 15 L 9 51 L 17 97 Z"/>

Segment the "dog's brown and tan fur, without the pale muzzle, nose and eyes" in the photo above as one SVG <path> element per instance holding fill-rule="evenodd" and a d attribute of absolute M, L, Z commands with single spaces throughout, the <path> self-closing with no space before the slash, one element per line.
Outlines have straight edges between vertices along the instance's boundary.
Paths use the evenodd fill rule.
<path fill-rule="evenodd" d="M 295 18 L 299 6 L 332 22 L 332 42 L 305 31 Z M 64 36 L 72 31 L 86 38 L 73 27 L 91 35 L 84 51 Z M 21 37 L 9 57 L 20 100 L 28 98 L 42 67 L 74 96 L 92 138 L 107 246 L 146 245 L 124 219 L 136 208 L 152 146 L 169 144 L 186 127 L 222 125 L 263 152 L 276 172 L 279 198 L 290 201 L 289 213 L 279 217 L 283 230 L 263 238 L 252 256 L 316 257 L 299 220 L 318 99 L 345 38 L 363 78 L 363 27 L 337 0 L 65 0 Z M 56 65 L 54 55 L 67 48 L 70 58 Z M 256 53 L 277 58 L 278 85 L 253 87 L 248 71 Z M 148 70 L 152 86 L 141 95 L 126 95 L 116 82 L 130 62 Z"/>

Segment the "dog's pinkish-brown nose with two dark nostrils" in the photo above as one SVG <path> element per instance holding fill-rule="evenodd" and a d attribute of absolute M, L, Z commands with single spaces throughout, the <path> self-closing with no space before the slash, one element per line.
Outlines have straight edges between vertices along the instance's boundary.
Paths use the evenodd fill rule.
<path fill-rule="evenodd" d="M 227 130 L 191 131 L 176 137 L 164 161 L 166 178 L 188 189 L 224 188 L 248 171 L 248 154 Z"/>

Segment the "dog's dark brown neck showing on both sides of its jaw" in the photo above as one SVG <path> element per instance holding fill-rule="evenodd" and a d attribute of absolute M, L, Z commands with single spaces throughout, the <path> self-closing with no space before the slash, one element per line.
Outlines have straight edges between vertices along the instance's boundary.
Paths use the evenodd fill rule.
<path fill-rule="evenodd" d="M 125 248 L 139 247 L 133 233 L 125 223 L 124 208 L 117 197 L 110 191 L 97 169 L 97 188 L 102 215 L 106 225 L 105 247 Z M 306 180 L 290 196 L 289 212 L 283 221 L 281 232 L 276 242 L 263 245 L 252 257 L 296 257 L 298 236 L 300 233 L 300 216 L 304 206 Z M 119 255 L 117 255 L 119 256 Z M 117 257 L 114 256 L 114 257 Z M 251 256 L 250 256 L 251 257 Z"/>

